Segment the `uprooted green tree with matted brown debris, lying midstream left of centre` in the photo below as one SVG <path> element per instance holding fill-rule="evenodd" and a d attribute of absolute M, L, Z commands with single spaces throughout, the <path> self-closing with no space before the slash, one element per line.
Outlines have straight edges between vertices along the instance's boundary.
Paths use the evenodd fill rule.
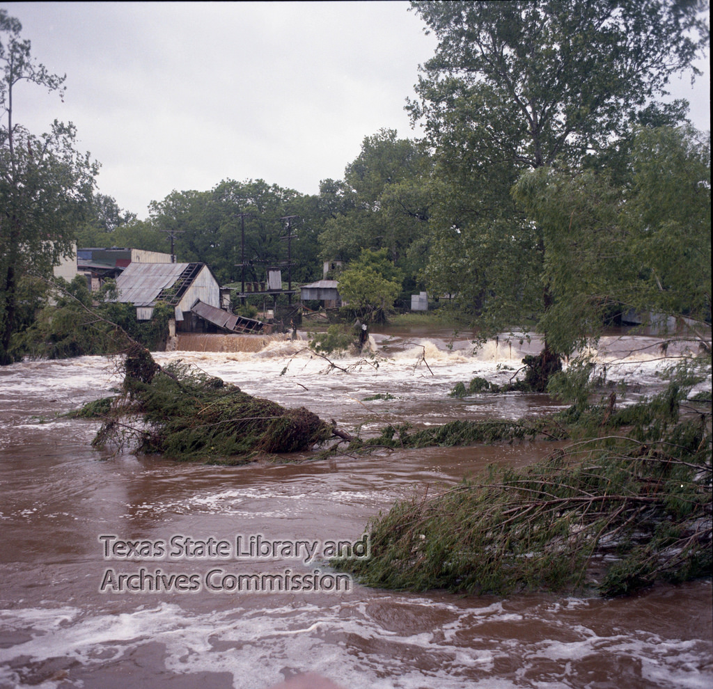
<path fill-rule="evenodd" d="M 75 414 L 103 419 L 95 447 L 129 440 L 137 452 L 235 464 L 311 450 L 333 436 L 351 440 L 304 407 L 288 409 L 253 397 L 180 362 L 161 367 L 136 344 L 123 368 L 122 395 Z"/>

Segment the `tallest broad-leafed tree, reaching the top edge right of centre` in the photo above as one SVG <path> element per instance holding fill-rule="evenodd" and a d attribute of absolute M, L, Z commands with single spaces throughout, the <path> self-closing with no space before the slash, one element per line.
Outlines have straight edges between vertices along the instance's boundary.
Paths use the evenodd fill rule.
<path fill-rule="evenodd" d="M 553 305 L 547 237 L 513 203 L 524 170 L 602 165 L 707 45 L 688 0 L 413 2 L 438 38 L 409 103 L 434 150 L 431 286 L 457 291 L 484 332 L 528 326 Z M 454 262 L 453 262 L 454 261 Z M 457 266 L 458 274 L 448 271 Z M 543 279 L 545 277 L 545 279 Z M 545 333 L 546 334 L 546 333 Z"/>

